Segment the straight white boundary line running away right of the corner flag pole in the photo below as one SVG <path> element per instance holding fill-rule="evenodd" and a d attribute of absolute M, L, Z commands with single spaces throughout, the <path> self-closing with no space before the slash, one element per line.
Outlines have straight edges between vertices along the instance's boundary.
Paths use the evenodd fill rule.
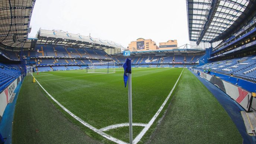
<path fill-rule="evenodd" d="M 183 68 L 184 70 L 184 68 Z M 183 70 L 181 71 L 180 73 L 180 76 L 183 72 Z M 157 116 L 160 114 L 160 112 L 162 111 L 162 109 L 164 108 L 164 105 L 167 103 L 167 101 L 169 100 L 170 96 L 172 95 L 172 92 L 173 90 L 175 89 L 179 79 L 180 79 L 180 76 L 179 78 L 177 79 L 175 85 L 173 86 L 171 92 L 169 93 L 169 95 L 166 97 L 166 99 L 164 100 L 164 103 L 160 106 L 160 108 L 158 109 L 158 111 L 156 112 L 156 114 L 153 116 L 153 118 L 148 122 L 148 124 L 145 126 L 145 128 L 140 132 L 139 135 L 137 135 L 137 137 L 133 140 L 133 143 L 134 144 L 137 144 L 140 139 L 143 137 L 143 135 L 148 131 L 148 129 L 151 127 L 151 125 L 153 124 L 153 122 L 156 120 Z"/>

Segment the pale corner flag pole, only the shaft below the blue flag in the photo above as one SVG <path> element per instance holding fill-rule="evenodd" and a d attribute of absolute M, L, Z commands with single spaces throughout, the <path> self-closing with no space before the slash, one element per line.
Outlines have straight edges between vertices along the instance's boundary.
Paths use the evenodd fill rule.
<path fill-rule="evenodd" d="M 129 105 L 129 132 L 130 144 L 132 144 L 132 74 L 128 73 L 128 105 Z"/>

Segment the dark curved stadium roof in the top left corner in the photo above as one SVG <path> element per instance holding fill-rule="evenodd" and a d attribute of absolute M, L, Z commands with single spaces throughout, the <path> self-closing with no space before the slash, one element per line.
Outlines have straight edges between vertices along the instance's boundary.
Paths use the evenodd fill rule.
<path fill-rule="evenodd" d="M 0 44 L 22 47 L 30 32 L 29 23 L 35 0 L 1 0 Z"/>

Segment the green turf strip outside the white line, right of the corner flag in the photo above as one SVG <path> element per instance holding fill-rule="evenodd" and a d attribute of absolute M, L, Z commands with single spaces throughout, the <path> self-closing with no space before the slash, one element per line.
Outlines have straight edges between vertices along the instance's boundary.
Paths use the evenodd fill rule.
<path fill-rule="evenodd" d="M 149 143 L 232 143 L 242 138 L 208 89 L 184 70 L 170 107 Z"/>

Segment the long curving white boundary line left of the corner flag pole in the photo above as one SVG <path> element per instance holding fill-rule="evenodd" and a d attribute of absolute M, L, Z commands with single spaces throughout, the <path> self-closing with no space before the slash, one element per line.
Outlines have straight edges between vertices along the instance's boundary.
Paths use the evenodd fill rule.
<path fill-rule="evenodd" d="M 36 79 L 35 79 L 36 80 Z M 39 84 L 40 87 L 41 84 L 36 80 L 36 82 Z M 101 135 L 102 137 L 105 137 L 107 138 L 108 140 L 111 140 L 115 143 L 118 143 L 118 144 L 127 144 L 125 143 L 124 141 L 121 141 L 117 138 L 114 138 L 108 134 L 106 134 L 105 132 L 103 131 L 100 131 L 99 129 L 93 127 L 92 125 L 88 124 L 87 122 L 83 121 L 81 118 L 79 118 L 78 116 L 74 115 L 74 113 L 70 112 L 67 108 L 65 108 L 63 105 L 61 105 L 56 99 L 54 99 L 54 97 L 52 97 L 45 89 L 44 87 L 42 87 L 42 89 L 45 91 L 45 93 L 47 93 L 47 95 L 49 97 L 51 97 L 52 100 L 54 100 L 54 102 L 56 102 L 64 111 L 66 111 L 69 115 L 71 115 L 73 118 L 75 118 L 77 121 L 81 122 L 81 124 L 83 124 L 84 126 L 86 126 L 87 128 L 90 128 L 92 129 L 93 131 L 97 132 L 99 135 Z"/>

